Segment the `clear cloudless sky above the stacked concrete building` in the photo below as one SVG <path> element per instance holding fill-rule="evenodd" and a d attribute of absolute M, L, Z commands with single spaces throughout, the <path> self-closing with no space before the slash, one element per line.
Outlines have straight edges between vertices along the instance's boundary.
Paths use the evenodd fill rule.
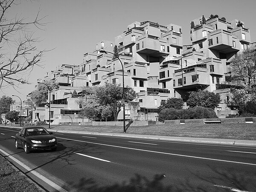
<path fill-rule="evenodd" d="M 39 7 L 39 16 L 47 15 L 47 25 L 35 31 L 35 37 L 41 40 L 37 47 L 52 50 L 44 53 L 44 68 L 35 67 L 28 76 L 31 85 L 2 89 L 0 97 L 18 95 L 25 100 L 45 72 L 61 64 L 81 64 L 83 54 L 92 52 L 97 42 L 114 41 L 134 21 L 182 26 L 183 44 L 191 44 L 190 21 L 213 14 L 227 21 L 243 21 L 250 29 L 251 41 L 256 41 L 256 0 L 21 0 L 21 5 L 12 6 L 9 14 L 33 19 Z"/>

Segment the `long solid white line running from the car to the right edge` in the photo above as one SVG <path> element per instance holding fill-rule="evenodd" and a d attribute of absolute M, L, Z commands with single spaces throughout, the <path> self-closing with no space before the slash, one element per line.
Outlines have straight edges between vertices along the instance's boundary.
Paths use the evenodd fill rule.
<path fill-rule="evenodd" d="M 72 140 L 72 139 L 62 138 L 62 137 L 57 137 L 57 138 L 64 139 L 64 140 Z M 236 161 L 211 159 L 211 158 L 206 158 L 206 157 L 195 157 L 195 156 L 173 154 L 173 153 L 165 153 L 165 152 L 159 152 L 159 151 L 149 151 L 149 150 L 138 149 L 138 148 L 121 147 L 121 146 L 116 146 L 116 145 L 107 145 L 107 144 L 102 144 L 102 143 L 93 143 L 93 142 L 80 141 L 80 140 L 72 140 L 72 141 L 78 141 L 78 142 L 83 142 L 83 143 L 91 143 L 91 144 L 96 144 L 96 145 L 104 145 L 104 146 L 109 146 L 109 147 L 126 148 L 126 149 L 137 150 L 137 151 L 146 151 L 146 152 L 151 152 L 151 153 L 169 154 L 169 155 L 174 155 L 174 156 L 179 156 L 179 157 L 190 157 L 190 158 L 195 158 L 195 159 L 205 159 L 205 160 L 213 160 L 213 161 L 221 161 L 221 162 L 227 162 L 227 163 L 237 163 L 237 164 L 256 166 L 256 164 L 253 164 L 253 163 L 243 163 L 243 162 L 236 162 Z"/>

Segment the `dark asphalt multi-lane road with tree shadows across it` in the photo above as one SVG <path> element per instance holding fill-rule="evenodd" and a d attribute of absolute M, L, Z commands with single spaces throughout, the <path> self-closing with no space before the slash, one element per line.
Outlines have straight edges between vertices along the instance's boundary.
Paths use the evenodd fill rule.
<path fill-rule="evenodd" d="M 33 172 L 67 191 L 256 191 L 256 148 L 54 133 L 57 151 L 25 154 L 18 130 L 0 127 L 0 149 L 46 191 Z"/>

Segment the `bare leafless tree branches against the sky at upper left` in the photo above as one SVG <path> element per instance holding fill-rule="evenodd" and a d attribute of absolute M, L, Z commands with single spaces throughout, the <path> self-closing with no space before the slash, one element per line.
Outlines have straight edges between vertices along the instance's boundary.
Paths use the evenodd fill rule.
<path fill-rule="evenodd" d="M 38 50 L 33 38 L 33 28 L 40 29 L 42 19 L 38 14 L 32 20 L 9 18 L 8 12 L 18 6 L 19 0 L 0 1 L 0 88 L 29 84 L 24 73 L 30 73 L 34 66 L 40 66 L 45 50 Z"/>

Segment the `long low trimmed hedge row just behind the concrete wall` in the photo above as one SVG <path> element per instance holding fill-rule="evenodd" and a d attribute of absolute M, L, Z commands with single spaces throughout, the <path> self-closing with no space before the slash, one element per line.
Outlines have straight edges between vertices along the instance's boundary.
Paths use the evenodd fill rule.
<path fill-rule="evenodd" d="M 214 119 L 218 118 L 212 108 L 195 107 L 189 109 L 163 109 L 158 114 L 158 121 L 164 122 L 165 120 L 175 119 Z"/>

